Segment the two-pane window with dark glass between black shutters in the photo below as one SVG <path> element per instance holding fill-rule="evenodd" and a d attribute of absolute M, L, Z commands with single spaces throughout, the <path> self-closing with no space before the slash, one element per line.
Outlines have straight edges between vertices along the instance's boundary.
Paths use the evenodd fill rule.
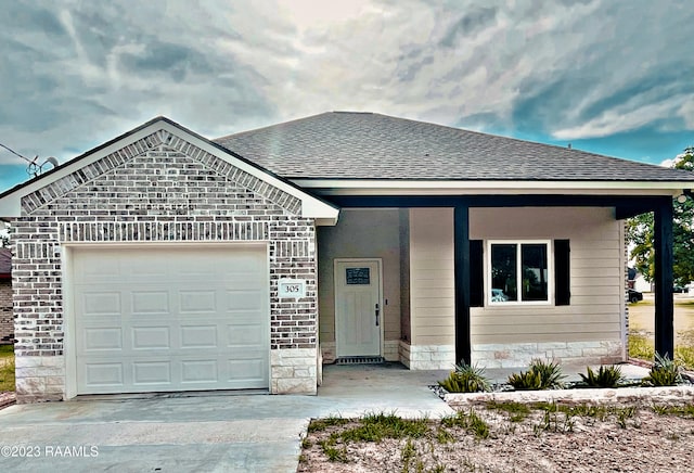
<path fill-rule="evenodd" d="M 489 302 L 550 302 L 549 248 L 547 241 L 489 242 Z"/>

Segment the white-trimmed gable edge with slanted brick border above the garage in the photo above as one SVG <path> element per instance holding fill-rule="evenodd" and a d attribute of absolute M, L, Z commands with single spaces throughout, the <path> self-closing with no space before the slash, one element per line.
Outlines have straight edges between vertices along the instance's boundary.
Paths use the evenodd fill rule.
<path fill-rule="evenodd" d="M 337 209 L 331 204 L 164 117 L 155 118 L 37 179 L 0 194 L 0 215 L 30 214 L 154 149 L 184 153 L 294 214 L 317 218 L 325 223 L 337 217 Z"/>

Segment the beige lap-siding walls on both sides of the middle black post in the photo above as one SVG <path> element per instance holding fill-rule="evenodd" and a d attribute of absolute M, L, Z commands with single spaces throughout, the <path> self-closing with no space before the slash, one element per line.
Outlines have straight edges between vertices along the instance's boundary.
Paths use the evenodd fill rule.
<path fill-rule="evenodd" d="M 568 239 L 571 247 L 571 304 L 489 307 L 486 302 L 472 308 L 473 361 L 510 367 L 534 357 L 622 358 L 624 225 L 612 208 L 472 208 L 470 215 L 474 240 Z M 453 210 L 416 208 L 409 216 L 411 346 L 401 351 L 409 366 L 412 353 L 427 351 L 424 368 L 435 363 L 428 355 L 435 349 L 450 362 L 445 353 L 454 345 Z"/>

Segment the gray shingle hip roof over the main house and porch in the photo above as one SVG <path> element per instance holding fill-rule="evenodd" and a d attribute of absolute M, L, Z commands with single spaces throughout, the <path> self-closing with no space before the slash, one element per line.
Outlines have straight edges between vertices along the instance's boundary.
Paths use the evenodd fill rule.
<path fill-rule="evenodd" d="M 694 182 L 690 171 L 373 113 L 329 112 L 214 141 L 290 179 Z"/>

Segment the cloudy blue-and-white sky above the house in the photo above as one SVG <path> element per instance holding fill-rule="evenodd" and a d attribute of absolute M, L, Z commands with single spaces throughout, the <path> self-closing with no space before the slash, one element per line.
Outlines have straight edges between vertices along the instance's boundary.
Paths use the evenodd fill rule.
<path fill-rule="evenodd" d="M 659 164 L 694 145 L 691 0 L 7 0 L 0 143 L 166 115 L 217 138 L 370 111 Z M 0 191 L 27 178 L 0 149 Z"/>

